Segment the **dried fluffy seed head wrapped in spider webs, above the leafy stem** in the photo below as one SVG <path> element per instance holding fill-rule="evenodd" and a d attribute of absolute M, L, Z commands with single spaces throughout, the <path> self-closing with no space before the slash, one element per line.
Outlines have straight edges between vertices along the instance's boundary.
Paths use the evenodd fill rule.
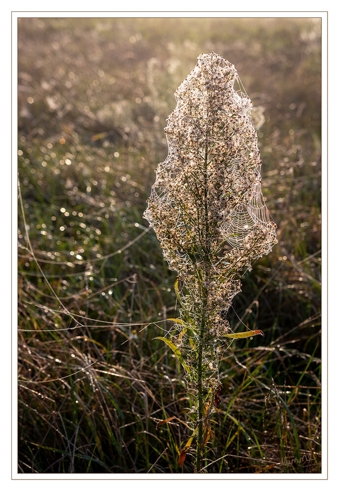
<path fill-rule="evenodd" d="M 144 217 L 185 291 L 192 318 L 227 312 L 244 267 L 277 242 L 261 193 L 261 160 L 252 102 L 234 66 L 201 54 L 175 92 Z"/>

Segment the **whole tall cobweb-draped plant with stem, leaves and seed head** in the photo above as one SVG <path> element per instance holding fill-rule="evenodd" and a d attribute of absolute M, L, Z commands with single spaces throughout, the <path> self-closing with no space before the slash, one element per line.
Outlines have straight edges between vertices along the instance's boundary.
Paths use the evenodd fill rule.
<path fill-rule="evenodd" d="M 170 337 L 159 339 L 179 359 L 195 395 L 192 435 L 179 465 L 195 453 L 196 472 L 220 403 L 220 349 L 232 338 L 262 334 L 233 333 L 227 311 L 244 271 L 277 241 L 261 194 L 252 102 L 240 87 L 227 60 L 215 53 L 198 57 L 175 92 L 177 106 L 165 128 L 169 154 L 156 170 L 144 213 L 178 273 L 180 318 L 171 319 Z"/>

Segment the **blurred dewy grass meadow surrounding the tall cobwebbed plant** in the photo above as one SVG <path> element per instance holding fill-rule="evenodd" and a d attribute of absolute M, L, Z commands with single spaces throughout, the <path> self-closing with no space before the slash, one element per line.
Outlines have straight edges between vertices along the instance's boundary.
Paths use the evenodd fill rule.
<path fill-rule="evenodd" d="M 228 319 L 208 473 L 321 471 L 320 19 L 18 21 L 18 469 L 192 473 L 176 276 L 142 219 L 173 93 L 200 53 L 253 101 L 279 243 Z"/>

